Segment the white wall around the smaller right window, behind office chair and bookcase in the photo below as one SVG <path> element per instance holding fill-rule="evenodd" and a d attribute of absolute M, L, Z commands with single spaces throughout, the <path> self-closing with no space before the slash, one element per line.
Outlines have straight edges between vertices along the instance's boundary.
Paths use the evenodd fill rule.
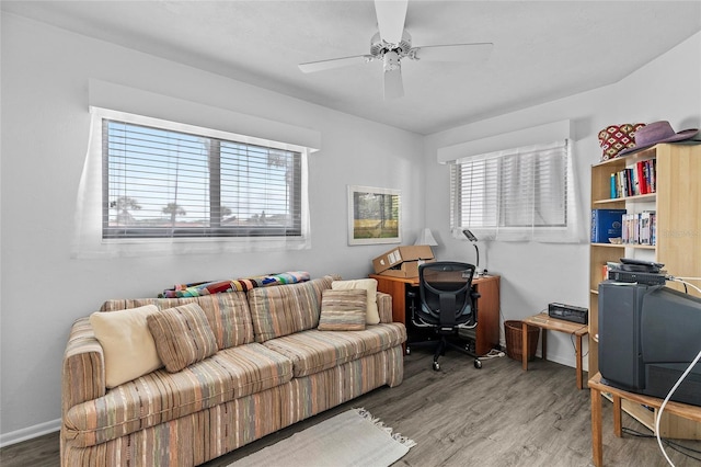
<path fill-rule="evenodd" d="M 677 132 L 701 127 L 701 33 L 616 84 L 426 137 L 426 185 L 433 186 L 426 192 L 426 226 L 440 243 L 439 259 L 474 261 L 474 249 L 464 238 L 450 238 L 449 170 L 436 162 L 437 149 L 565 118 L 573 122 L 575 193 L 588 231 L 589 169 L 601 156 L 601 128 L 659 119 Z M 587 244 L 494 241 L 480 242 L 480 249 L 481 265 L 502 275 L 503 321 L 539 312 L 551 301 L 588 308 Z M 550 333 L 548 349 L 549 360 L 574 366 L 570 337 Z"/>

